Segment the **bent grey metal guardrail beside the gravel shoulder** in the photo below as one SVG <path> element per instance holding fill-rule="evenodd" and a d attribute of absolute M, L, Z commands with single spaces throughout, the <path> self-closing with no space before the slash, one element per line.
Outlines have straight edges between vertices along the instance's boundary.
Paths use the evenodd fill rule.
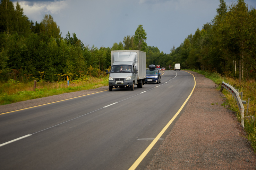
<path fill-rule="evenodd" d="M 246 104 L 246 101 L 242 101 L 241 98 L 239 97 L 239 93 L 236 91 L 236 89 L 234 89 L 228 83 L 222 82 L 220 91 L 222 92 L 222 90 L 224 88 L 227 89 L 233 95 L 233 97 L 236 99 L 237 105 L 239 107 L 239 111 L 241 113 L 241 125 L 243 128 L 245 128 L 245 125 L 244 125 L 245 107 L 244 107 L 243 103 Z"/>

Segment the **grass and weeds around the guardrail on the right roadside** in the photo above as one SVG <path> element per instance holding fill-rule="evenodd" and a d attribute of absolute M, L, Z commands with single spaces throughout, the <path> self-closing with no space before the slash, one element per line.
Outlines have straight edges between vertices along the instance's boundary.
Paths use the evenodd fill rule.
<path fill-rule="evenodd" d="M 243 80 L 240 82 L 239 79 L 234 79 L 232 77 L 224 77 L 216 72 L 206 72 L 195 69 L 193 69 L 192 71 L 205 75 L 206 78 L 211 79 L 214 83 L 218 85 L 218 90 L 220 90 L 221 88 L 222 81 L 225 83 L 229 83 L 233 87 L 236 87 L 236 89 L 239 89 L 239 92 L 243 92 L 243 100 L 248 101 L 248 98 L 250 98 L 248 114 L 246 114 L 248 102 L 247 104 L 244 104 L 245 116 L 251 115 L 256 118 L 256 82 L 254 79 Z M 241 114 L 237 106 L 237 102 L 234 100 L 234 98 L 232 98 L 230 92 L 223 90 L 222 93 L 227 98 L 227 100 L 222 105 L 236 112 L 237 120 L 241 122 Z M 247 138 L 250 141 L 254 151 L 256 152 L 256 122 L 248 121 L 245 119 L 245 130 L 248 134 Z"/>

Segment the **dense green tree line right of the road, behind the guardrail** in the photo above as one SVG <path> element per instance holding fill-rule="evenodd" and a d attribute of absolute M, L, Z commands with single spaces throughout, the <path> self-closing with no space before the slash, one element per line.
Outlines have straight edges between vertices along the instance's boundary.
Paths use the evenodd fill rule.
<path fill-rule="evenodd" d="M 211 70 L 241 78 L 256 79 L 256 10 L 244 0 L 227 7 L 220 0 L 212 22 L 197 29 L 171 50 L 171 60 L 182 68 Z"/>

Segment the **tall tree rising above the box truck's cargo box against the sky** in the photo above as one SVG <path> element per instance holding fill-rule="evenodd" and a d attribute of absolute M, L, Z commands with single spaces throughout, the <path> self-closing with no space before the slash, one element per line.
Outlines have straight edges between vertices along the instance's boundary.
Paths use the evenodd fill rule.
<path fill-rule="evenodd" d="M 143 26 L 139 25 L 134 35 L 134 44 L 135 46 L 137 46 L 138 50 L 146 51 L 146 47 L 147 47 L 146 36 L 147 36 L 147 33 L 143 29 Z"/>

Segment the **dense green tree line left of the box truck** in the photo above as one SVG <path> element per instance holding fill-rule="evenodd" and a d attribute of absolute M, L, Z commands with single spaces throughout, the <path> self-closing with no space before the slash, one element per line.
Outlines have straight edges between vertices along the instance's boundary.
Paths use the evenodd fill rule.
<path fill-rule="evenodd" d="M 88 47 L 76 34 L 61 37 L 51 15 L 29 21 L 19 3 L 0 4 L 0 79 L 58 81 L 101 76 L 111 65 L 111 49 Z"/>

